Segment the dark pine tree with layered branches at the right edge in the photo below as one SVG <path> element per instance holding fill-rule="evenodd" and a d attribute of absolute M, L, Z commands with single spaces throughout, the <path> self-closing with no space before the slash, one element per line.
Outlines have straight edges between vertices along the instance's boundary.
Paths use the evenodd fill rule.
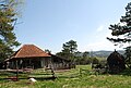
<path fill-rule="evenodd" d="M 131 2 L 126 7 L 126 15 L 121 16 L 120 22 L 115 25 L 110 25 L 111 35 L 117 38 L 108 38 L 112 42 L 126 43 L 131 42 Z M 131 63 L 131 46 L 126 48 L 127 63 Z"/>

